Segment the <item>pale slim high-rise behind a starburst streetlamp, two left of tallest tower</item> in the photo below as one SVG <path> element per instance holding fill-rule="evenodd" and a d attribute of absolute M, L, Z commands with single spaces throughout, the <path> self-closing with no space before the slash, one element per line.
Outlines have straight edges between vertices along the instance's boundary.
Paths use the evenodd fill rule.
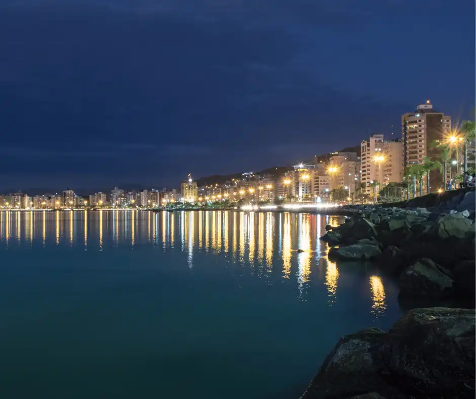
<path fill-rule="evenodd" d="M 361 180 L 368 194 L 373 192 L 370 184 L 383 181 L 383 134 L 373 134 L 361 143 Z"/>

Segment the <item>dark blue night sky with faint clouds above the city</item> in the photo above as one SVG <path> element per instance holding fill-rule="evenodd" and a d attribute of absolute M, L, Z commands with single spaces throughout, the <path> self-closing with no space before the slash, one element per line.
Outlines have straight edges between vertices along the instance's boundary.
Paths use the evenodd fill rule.
<path fill-rule="evenodd" d="M 474 107 L 474 1 L 2 0 L 0 191 L 178 186 Z"/>

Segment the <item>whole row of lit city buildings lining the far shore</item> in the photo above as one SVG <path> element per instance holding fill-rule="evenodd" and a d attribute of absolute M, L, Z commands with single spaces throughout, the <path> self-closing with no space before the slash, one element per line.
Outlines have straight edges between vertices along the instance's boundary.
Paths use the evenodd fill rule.
<path fill-rule="evenodd" d="M 329 201 L 335 190 L 342 191 L 348 199 L 356 194 L 375 193 L 375 184 L 401 183 L 405 167 L 422 164 L 424 158 L 431 155 L 432 143 L 450 132 L 451 116 L 435 111 L 428 100 L 415 111 L 402 115 L 401 138 L 388 141 L 383 134 L 373 134 L 361 142 L 360 154 L 334 152 L 324 161 L 315 157 L 294 165 L 281 175 L 244 172 L 240 178 L 224 184 L 201 187 L 197 187 L 196 181 L 188 175 L 180 189 L 126 191 L 114 187 L 110 192 L 95 192 L 88 196 L 78 195 L 72 189 L 34 196 L 16 192 L 0 195 L 0 208 L 157 208 L 174 203 L 274 202 L 275 199 L 321 202 Z M 470 151 L 474 155 L 474 147 Z M 460 153 L 459 163 L 461 156 Z M 451 168 L 447 173 L 447 179 L 451 179 Z M 439 171 L 432 171 L 430 178 L 431 184 L 435 185 L 443 180 Z"/>

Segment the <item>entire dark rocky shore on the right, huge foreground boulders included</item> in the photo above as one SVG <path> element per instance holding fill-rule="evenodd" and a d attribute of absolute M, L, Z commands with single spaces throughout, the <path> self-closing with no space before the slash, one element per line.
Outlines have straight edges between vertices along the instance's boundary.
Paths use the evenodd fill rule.
<path fill-rule="evenodd" d="M 475 199 L 474 190 L 454 190 L 344 207 L 351 216 L 326 227 L 329 258 L 373 262 L 410 301 L 452 298 L 471 309 L 417 308 L 388 332 L 341 338 L 301 399 L 475 397 Z"/>

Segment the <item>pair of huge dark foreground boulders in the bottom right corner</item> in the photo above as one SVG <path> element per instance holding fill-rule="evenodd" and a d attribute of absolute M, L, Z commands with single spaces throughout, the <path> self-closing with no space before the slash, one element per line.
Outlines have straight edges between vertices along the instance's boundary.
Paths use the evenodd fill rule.
<path fill-rule="evenodd" d="M 340 339 L 301 399 L 473 399 L 472 309 L 409 311 Z"/>

